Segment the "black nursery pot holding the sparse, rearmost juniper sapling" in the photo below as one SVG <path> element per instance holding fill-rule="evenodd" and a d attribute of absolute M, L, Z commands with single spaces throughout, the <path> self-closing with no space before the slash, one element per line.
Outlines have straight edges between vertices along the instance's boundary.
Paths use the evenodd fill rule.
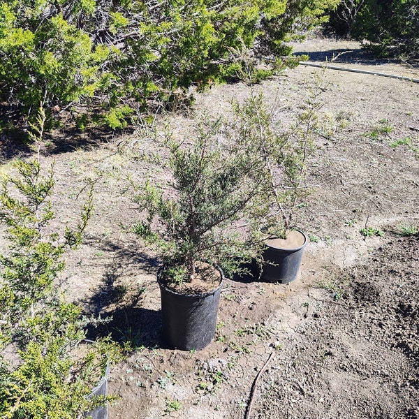
<path fill-rule="evenodd" d="M 286 243 L 287 240 L 277 240 L 276 238 L 266 242 L 266 249 L 263 252 L 264 263 L 260 275 L 263 281 L 288 284 L 288 282 L 297 279 L 302 254 L 307 244 L 307 236 L 300 230 L 293 230 L 291 233 L 293 233 L 294 239 L 291 242 L 297 242 L 299 244 L 297 247 Z M 298 235 L 300 237 L 297 237 Z"/>

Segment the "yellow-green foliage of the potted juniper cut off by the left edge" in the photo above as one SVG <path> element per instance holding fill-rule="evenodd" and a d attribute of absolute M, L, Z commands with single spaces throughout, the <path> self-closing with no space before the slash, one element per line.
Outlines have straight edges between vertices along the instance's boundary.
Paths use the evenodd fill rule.
<path fill-rule="evenodd" d="M 44 115 L 45 116 L 45 115 Z M 43 117 L 38 133 L 43 132 Z M 36 137 L 39 152 L 41 138 Z M 108 339 L 82 343 L 81 309 L 65 302 L 54 284 L 65 253 L 78 247 L 92 212 L 92 194 L 78 225 L 52 226 L 53 168 L 38 158 L 16 162 L 3 179 L 0 222 L 8 248 L 0 254 L 0 417 L 77 418 L 104 399 L 89 399 L 110 360 L 121 358 Z M 15 353 L 12 358 L 4 351 Z"/>

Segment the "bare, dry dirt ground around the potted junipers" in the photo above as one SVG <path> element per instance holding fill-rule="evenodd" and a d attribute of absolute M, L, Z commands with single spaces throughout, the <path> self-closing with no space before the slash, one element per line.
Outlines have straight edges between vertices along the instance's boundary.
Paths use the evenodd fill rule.
<path fill-rule="evenodd" d="M 418 68 L 373 61 L 356 43 L 296 49 L 311 61 L 419 78 Z M 159 260 L 123 228 L 136 217 L 128 179 L 142 182 L 153 167 L 147 135 L 45 157 L 55 160 L 62 226 L 73 223 L 84 185 L 95 184 L 94 219 L 61 286 L 86 311 L 113 316 L 101 333 L 133 346 L 112 367 L 110 418 L 419 418 L 419 235 L 399 235 L 403 224 L 419 226 L 419 84 L 299 66 L 256 88 L 286 123 L 314 73 L 324 87 L 310 174 L 318 187 L 301 209 L 311 242 L 300 277 L 227 279 L 203 351 L 161 341 Z M 244 84 L 213 87 L 195 109 L 220 115 L 247 94 Z M 180 134 L 191 119 L 170 124 Z"/>

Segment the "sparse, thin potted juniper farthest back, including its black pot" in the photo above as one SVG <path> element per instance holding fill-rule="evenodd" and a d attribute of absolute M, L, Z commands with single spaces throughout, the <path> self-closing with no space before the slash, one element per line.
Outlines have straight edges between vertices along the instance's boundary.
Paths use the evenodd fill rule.
<path fill-rule="evenodd" d="M 297 229 L 297 212 L 312 191 L 306 184 L 307 158 L 314 151 L 318 101 L 305 103 L 293 126 L 282 128 L 261 94 L 235 103 L 233 147 L 257 161 L 249 172 L 260 187 L 253 205 L 253 237 L 264 243 L 258 260 L 264 281 L 282 284 L 297 278 L 307 236 Z"/>

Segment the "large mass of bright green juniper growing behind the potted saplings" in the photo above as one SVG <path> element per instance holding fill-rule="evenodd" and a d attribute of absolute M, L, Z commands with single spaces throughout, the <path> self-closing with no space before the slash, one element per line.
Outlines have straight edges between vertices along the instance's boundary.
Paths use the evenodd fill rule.
<path fill-rule="evenodd" d="M 108 112 L 103 120 L 112 128 L 123 128 L 133 101 L 143 110 L 168 106 L 191 84 L 205 89 L 240 77 L 243 63 L 234 51 L 242 45 L 256 61 L 283 67 L 291 52 L 285 41 L 337 3 L 2 1 L 0 101 L 17 105 L 29 119 L 39 103 L 49 117 L 71 105 L 96 105 Z"/>

